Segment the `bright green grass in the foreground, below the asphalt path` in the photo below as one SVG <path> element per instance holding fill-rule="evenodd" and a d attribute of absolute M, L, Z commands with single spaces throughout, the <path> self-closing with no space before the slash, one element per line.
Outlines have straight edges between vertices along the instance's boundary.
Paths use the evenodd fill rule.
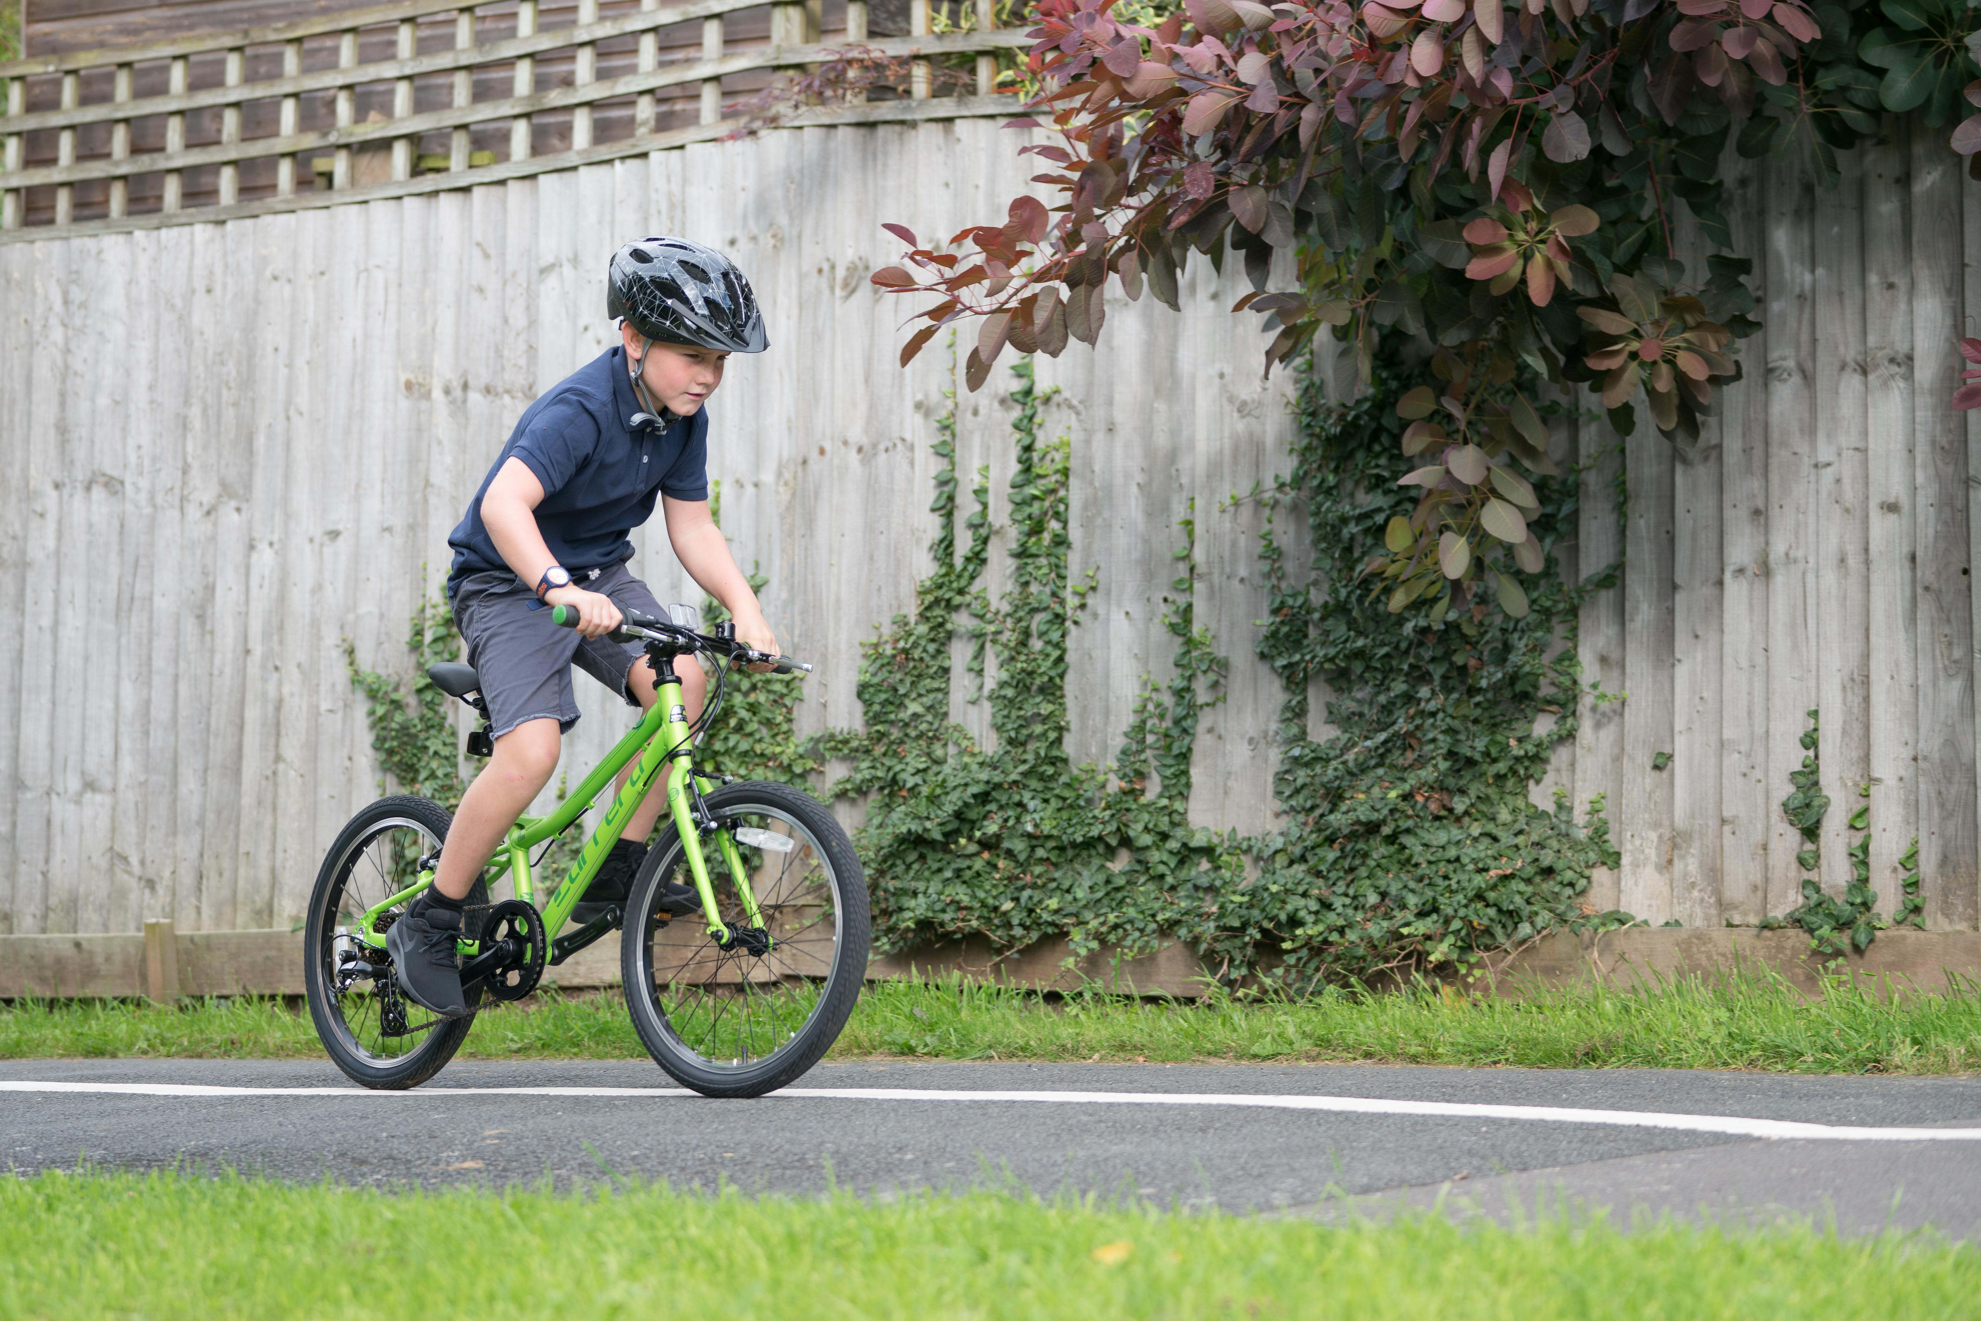
<path fill-rule="evenodd" d="M 1981 1295 L 1981 1254 L 1924 1234 L 1327 1228 L 1006 1192 L 388 1194 L 77 1172 L 0 1180 L 0 1317 L 1844 1321 L 1971 1315 Z"/>

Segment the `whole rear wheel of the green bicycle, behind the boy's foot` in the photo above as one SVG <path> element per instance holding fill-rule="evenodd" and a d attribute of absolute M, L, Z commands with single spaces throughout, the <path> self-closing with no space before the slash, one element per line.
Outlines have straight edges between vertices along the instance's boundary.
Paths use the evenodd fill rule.
<path fill-rule="evenodd" d="M 357 937 L 359 919 L 376 903 L 418 883 L 420 860 L 440 852 L 452 814 L 428 798 L 380 798 L 351 818 L 317 871 L 303 925 L 303 986 L 323 1050 L 347 1077 L 380 1089 L 418 1087 L 454 1058 L 473 1026 L 440 1018 L 404 994 L 382 947 Z M 468 903 L 487 903 L 479 879 Z M 406 905 L 378 917 L 378 933 L 406 915 Z"/>

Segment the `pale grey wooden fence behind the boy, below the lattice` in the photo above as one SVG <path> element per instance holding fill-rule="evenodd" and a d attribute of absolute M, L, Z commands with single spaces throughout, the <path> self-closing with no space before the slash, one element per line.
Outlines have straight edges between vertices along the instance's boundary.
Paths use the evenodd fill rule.
<path fill-rule="evenodd" d="M 36 242 L 0 236 L 0 931 L 287 927 L 343 820 L 376 794 L 343 642 L 406 671 L 406 620 L 529 400 L 616 329 L 602 273 L 628 234 L 679 232 L 755 281 L 771 353 L 713 400 L 711 475 L 737 557 L 769 574 L 786 648 L 818 661 L 802 729 L 860 719 L 860 642 L 929 568 L 939 347 L 895 366 L 903 309 L 868 283 L 901 220 L 1000 216 L 1034 172 L 996 121 L 814 127 L 475 188 Z M 1199 620 L 1246 679 L 1206 719 L 1204 820 L 1272 820 L 1276 685 L 1250 665 L 1260 511 L 1286 380 L 1208 265 L 1183 315 L 1113 299 L 1107 347 L 1042 362 L 1078 463 L 1074 751 L 1105 759 L 1167 671 L 1171 553 L 1199 495 Z M 14 347 L 26 347 L 14 349 Z M 959 400 L 961 463 L 992 467 L 1010 402 Z M 636 568 L 699 600 L 658 529 Z M 992 557 L 1002 560 L 1002 557 Z M 1002 564 L 994 564 L 996 578 Z M 586 691 L 596 689 L 596 691 Z M 626 707 L 580 683 L 567 764 Z M 983 727 L 983 705 L 959 719 Z M 573 782 L 576 776 L 573 776 Z"/>

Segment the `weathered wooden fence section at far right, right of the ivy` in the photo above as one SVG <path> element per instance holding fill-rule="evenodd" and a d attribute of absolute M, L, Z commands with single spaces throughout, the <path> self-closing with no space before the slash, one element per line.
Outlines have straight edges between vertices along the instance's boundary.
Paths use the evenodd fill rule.
<path fill-rule="evenodd" d="M 1593 899 L 1686 927 L 1801 903 L 1781 800 L 1821 711 L 1825 887 L 1868 806 L 1880 907 L 1916 840 L 1928 925 L 1973 929 L 1981 428 L 1947 400 L 1981 313 L 1981 188 L 1939 133 L 1892 121 L 1828 192 L 1731 152 L 1725 170 L 1767 327 L 1739 345 L 1745 380 L 1690 452 L 1581 434 L 1581 564 L 1624 560 L 1583 614 L 1583 677 L 1628 693 L 1585 701 L 1561 757 L 1618 828 L 1622 871 Z"/>

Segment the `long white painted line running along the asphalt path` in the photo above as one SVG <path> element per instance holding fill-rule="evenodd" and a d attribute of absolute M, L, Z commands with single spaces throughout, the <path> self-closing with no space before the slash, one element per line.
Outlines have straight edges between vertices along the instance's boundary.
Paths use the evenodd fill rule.
<path fill-rule="evenodd" d="M 424 1087 L 368 1091 L 365 1087 L 214 1087 L 200 1083 L 69 1083 L 4 1081 L 0 1091 L 67 1091 L 141 1097 L 693 1097 L 681 1087 Z M 1615 1129 L 1678 1129 L 1727 1137 L 1819 1139 L 1840 1143 L 1975 1143 L 1981 1129 L 1872 1129 L 1743 1115 L 1666 1115 L 1634 1109 L 1575 1109 L 1565 1105 L 1476 1105 L 1458 1101 L 1391 1101 L 1375 1097 L 1232 1095 L 1218 1091 L 949 1091 L 919 1087 L 786 1087 L 769 1101 L 969 1101 L 1046 1105 L 1222 1105 L 1234 1109 L 1305 1109 L 1335 1115 L 1420 1115 L 1426 1119 L 1513 1119 L 1527 1123 L 1591 1123 Z"/>

